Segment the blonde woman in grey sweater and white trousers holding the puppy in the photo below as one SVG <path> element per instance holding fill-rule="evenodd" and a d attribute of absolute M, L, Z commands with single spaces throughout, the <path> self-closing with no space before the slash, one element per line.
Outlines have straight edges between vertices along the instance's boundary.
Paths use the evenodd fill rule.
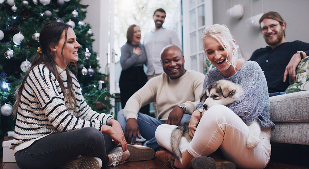
<path fill-rule="evenodd" d="M 197 105 L 189 124 L 189 135 L 193 139 L 191 142 L 180 142 L 180 147 L 184 147 L 182 161 L 175 159 L 167 150 L 158 151 L 156 157 L 176 168 L 265 168 L 269 163 L 270 135 L 275 125 L 270 121 L 270 103 L 264 74 L 256 62 L 237 60 L 235 40 L 225 25 L 206 27 L 202 42 L 207 59 L 215 66 L 207 72 L 203 90 L 224 79 L 239 84 L 243 93 L 237 101 L 227 106 L 214 105 L 206 111 L 201 109 L 201 113 L 199 109 L 205 100 Z M 261 128 L 260 140 L 255 148 L 248 149 L 246 124 L 255 119 Z M 167 131 L 168 128 L 170 131 Z M 173 128 L 159 126 L 156 133 L 158 130 L 171 133 Z M 157 138 L 157 141 L 160 145 L 166 144 L 164 140 Z M 210 158 L 214 157 L 216 150 L 221 151 L 223 156 Z"/>

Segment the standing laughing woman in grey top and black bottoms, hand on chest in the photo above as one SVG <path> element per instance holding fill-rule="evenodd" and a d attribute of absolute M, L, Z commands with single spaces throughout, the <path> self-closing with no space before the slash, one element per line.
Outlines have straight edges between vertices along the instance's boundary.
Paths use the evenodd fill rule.
<path fill-rule="evenodd" d="M 131 25 L 127 31 L 127 43 L 121 47 L 120 64 L 122 67 L 119 88 L 122 109 L 128 99 L 147 82 L 143 65 L 147 57 L 145 47 L 141 43 L 141 30 L 137 25 Z M 143 106 L 141 113 L 149 115 L 149 104 Z"/>

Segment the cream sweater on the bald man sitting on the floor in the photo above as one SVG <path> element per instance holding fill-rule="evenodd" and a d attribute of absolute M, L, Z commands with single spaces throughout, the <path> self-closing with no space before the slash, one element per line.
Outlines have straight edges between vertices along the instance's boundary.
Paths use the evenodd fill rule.
<path fill-rule="evenodd" d="M 169 113 L 179 103 L 186 105 L 186 112 L 192 114 L 200 102 L 205 75 L 194 70 L 187 70 L 177 79 L 170 79 L 166 73 L 151 78 L 141 89 L 134 93 L 123 110 L 129 118 L 138 117 L 139 109 L 151 102 L 157 103 L 158 119 L 167 121 Z"/>

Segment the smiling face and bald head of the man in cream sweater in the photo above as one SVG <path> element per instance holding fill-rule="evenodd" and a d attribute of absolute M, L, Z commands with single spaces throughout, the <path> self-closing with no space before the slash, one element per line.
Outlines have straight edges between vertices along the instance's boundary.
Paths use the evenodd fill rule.
<path fill-rule="evenodd" d="M 177 79 L 186 72 L 184 69 L 184 55 L 178 47 L 167 47 L 162 52 L 161 63 L 164 72 L 171 79 Z"/>

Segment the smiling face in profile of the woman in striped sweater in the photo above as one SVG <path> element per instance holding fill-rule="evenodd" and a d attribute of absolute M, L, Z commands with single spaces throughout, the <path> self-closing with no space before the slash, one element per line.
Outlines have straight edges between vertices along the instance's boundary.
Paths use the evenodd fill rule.
<path fill-rule="evenodd" d="M 68 28 L 66 39 L 65 37 L 66 37 L 66 31 L 64 30 L 62 32 L 61 39 L 59 40 L 58 44 L 52 48 L 52 51 L 56 55 L 55 60 L 57 66 L 59 66 L 62 69 L 65 69 L 68 63 L 78 61 L 77 52 L 78 48 L 80 47 L 79 43 L 76 41 L 76 35 L 72 28 L 70 27 Z M 65 47 L 63 48 L 62 51 L 63 45 L 65 45 Z M 63 53 L 64 59 L 66 60 L 66 63 L 62 58 L 61 51 Z"/>

